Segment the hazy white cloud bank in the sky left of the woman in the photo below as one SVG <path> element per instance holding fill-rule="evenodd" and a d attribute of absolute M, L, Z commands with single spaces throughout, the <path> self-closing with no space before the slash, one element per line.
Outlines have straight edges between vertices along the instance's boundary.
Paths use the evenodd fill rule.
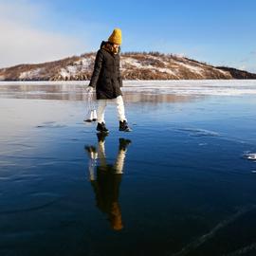
<path fill-rule="evenodd" d="M 40 27 L 46 9 L 26 0 L 0 1 L 0 67 L 13 64 L 41 63 L 82 53 L 79 38 Z"/>

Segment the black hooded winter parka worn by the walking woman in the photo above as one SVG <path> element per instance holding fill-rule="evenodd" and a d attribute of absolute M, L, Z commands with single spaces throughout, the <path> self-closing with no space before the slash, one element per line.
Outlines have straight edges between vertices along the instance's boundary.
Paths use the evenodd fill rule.
<path fill-rule="evenodd" d="M 120 57 L 119 53 L 114 54 L 103 46 L 107 42 L 101 43 L 101 48 L 97 52 L 89 86 L 96 88 L 97 100 L 115 99 L 121 94 L 120 87 L 122 79 L 120 76 Z"/>

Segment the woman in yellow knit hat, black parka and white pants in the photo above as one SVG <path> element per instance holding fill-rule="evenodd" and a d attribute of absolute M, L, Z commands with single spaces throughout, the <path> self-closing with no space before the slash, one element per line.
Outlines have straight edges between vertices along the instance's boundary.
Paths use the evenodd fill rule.
<path fill-rule="evenodd" d="M 97 131 L 108 133 L 105 126 L 104 112 L 107 101 L 113 100 L 117 104 L 119 117 L 119 131 L 130 132 L 127 119 L 125 117 L 124 104 L 120 87 L 122 79 L 119 69 L 119 46 L 121 45 L 121 30 L 115 28 L 107 42 L 102 41 L 101 49 L 97 52 L 94 71 L 91 81 L 87 86 L 87 92 L 92 92 L 96 88 L 98 100 L 98 125 Z"/>

